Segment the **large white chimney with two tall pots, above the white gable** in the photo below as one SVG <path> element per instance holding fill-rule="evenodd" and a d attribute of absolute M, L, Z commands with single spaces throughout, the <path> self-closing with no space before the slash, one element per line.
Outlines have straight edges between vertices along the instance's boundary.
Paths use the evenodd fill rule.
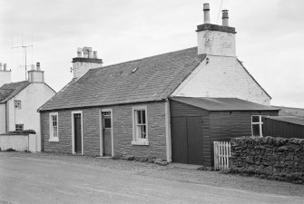
<path fill-rule="evenodd" d="M 228 10 L 222 10 L 222 25 L 211 24 L 210 6 L 203 5 L 204 24 L 197 26 L 198 54 L 236 56 L 235 28 L 228 24 Z"/>

